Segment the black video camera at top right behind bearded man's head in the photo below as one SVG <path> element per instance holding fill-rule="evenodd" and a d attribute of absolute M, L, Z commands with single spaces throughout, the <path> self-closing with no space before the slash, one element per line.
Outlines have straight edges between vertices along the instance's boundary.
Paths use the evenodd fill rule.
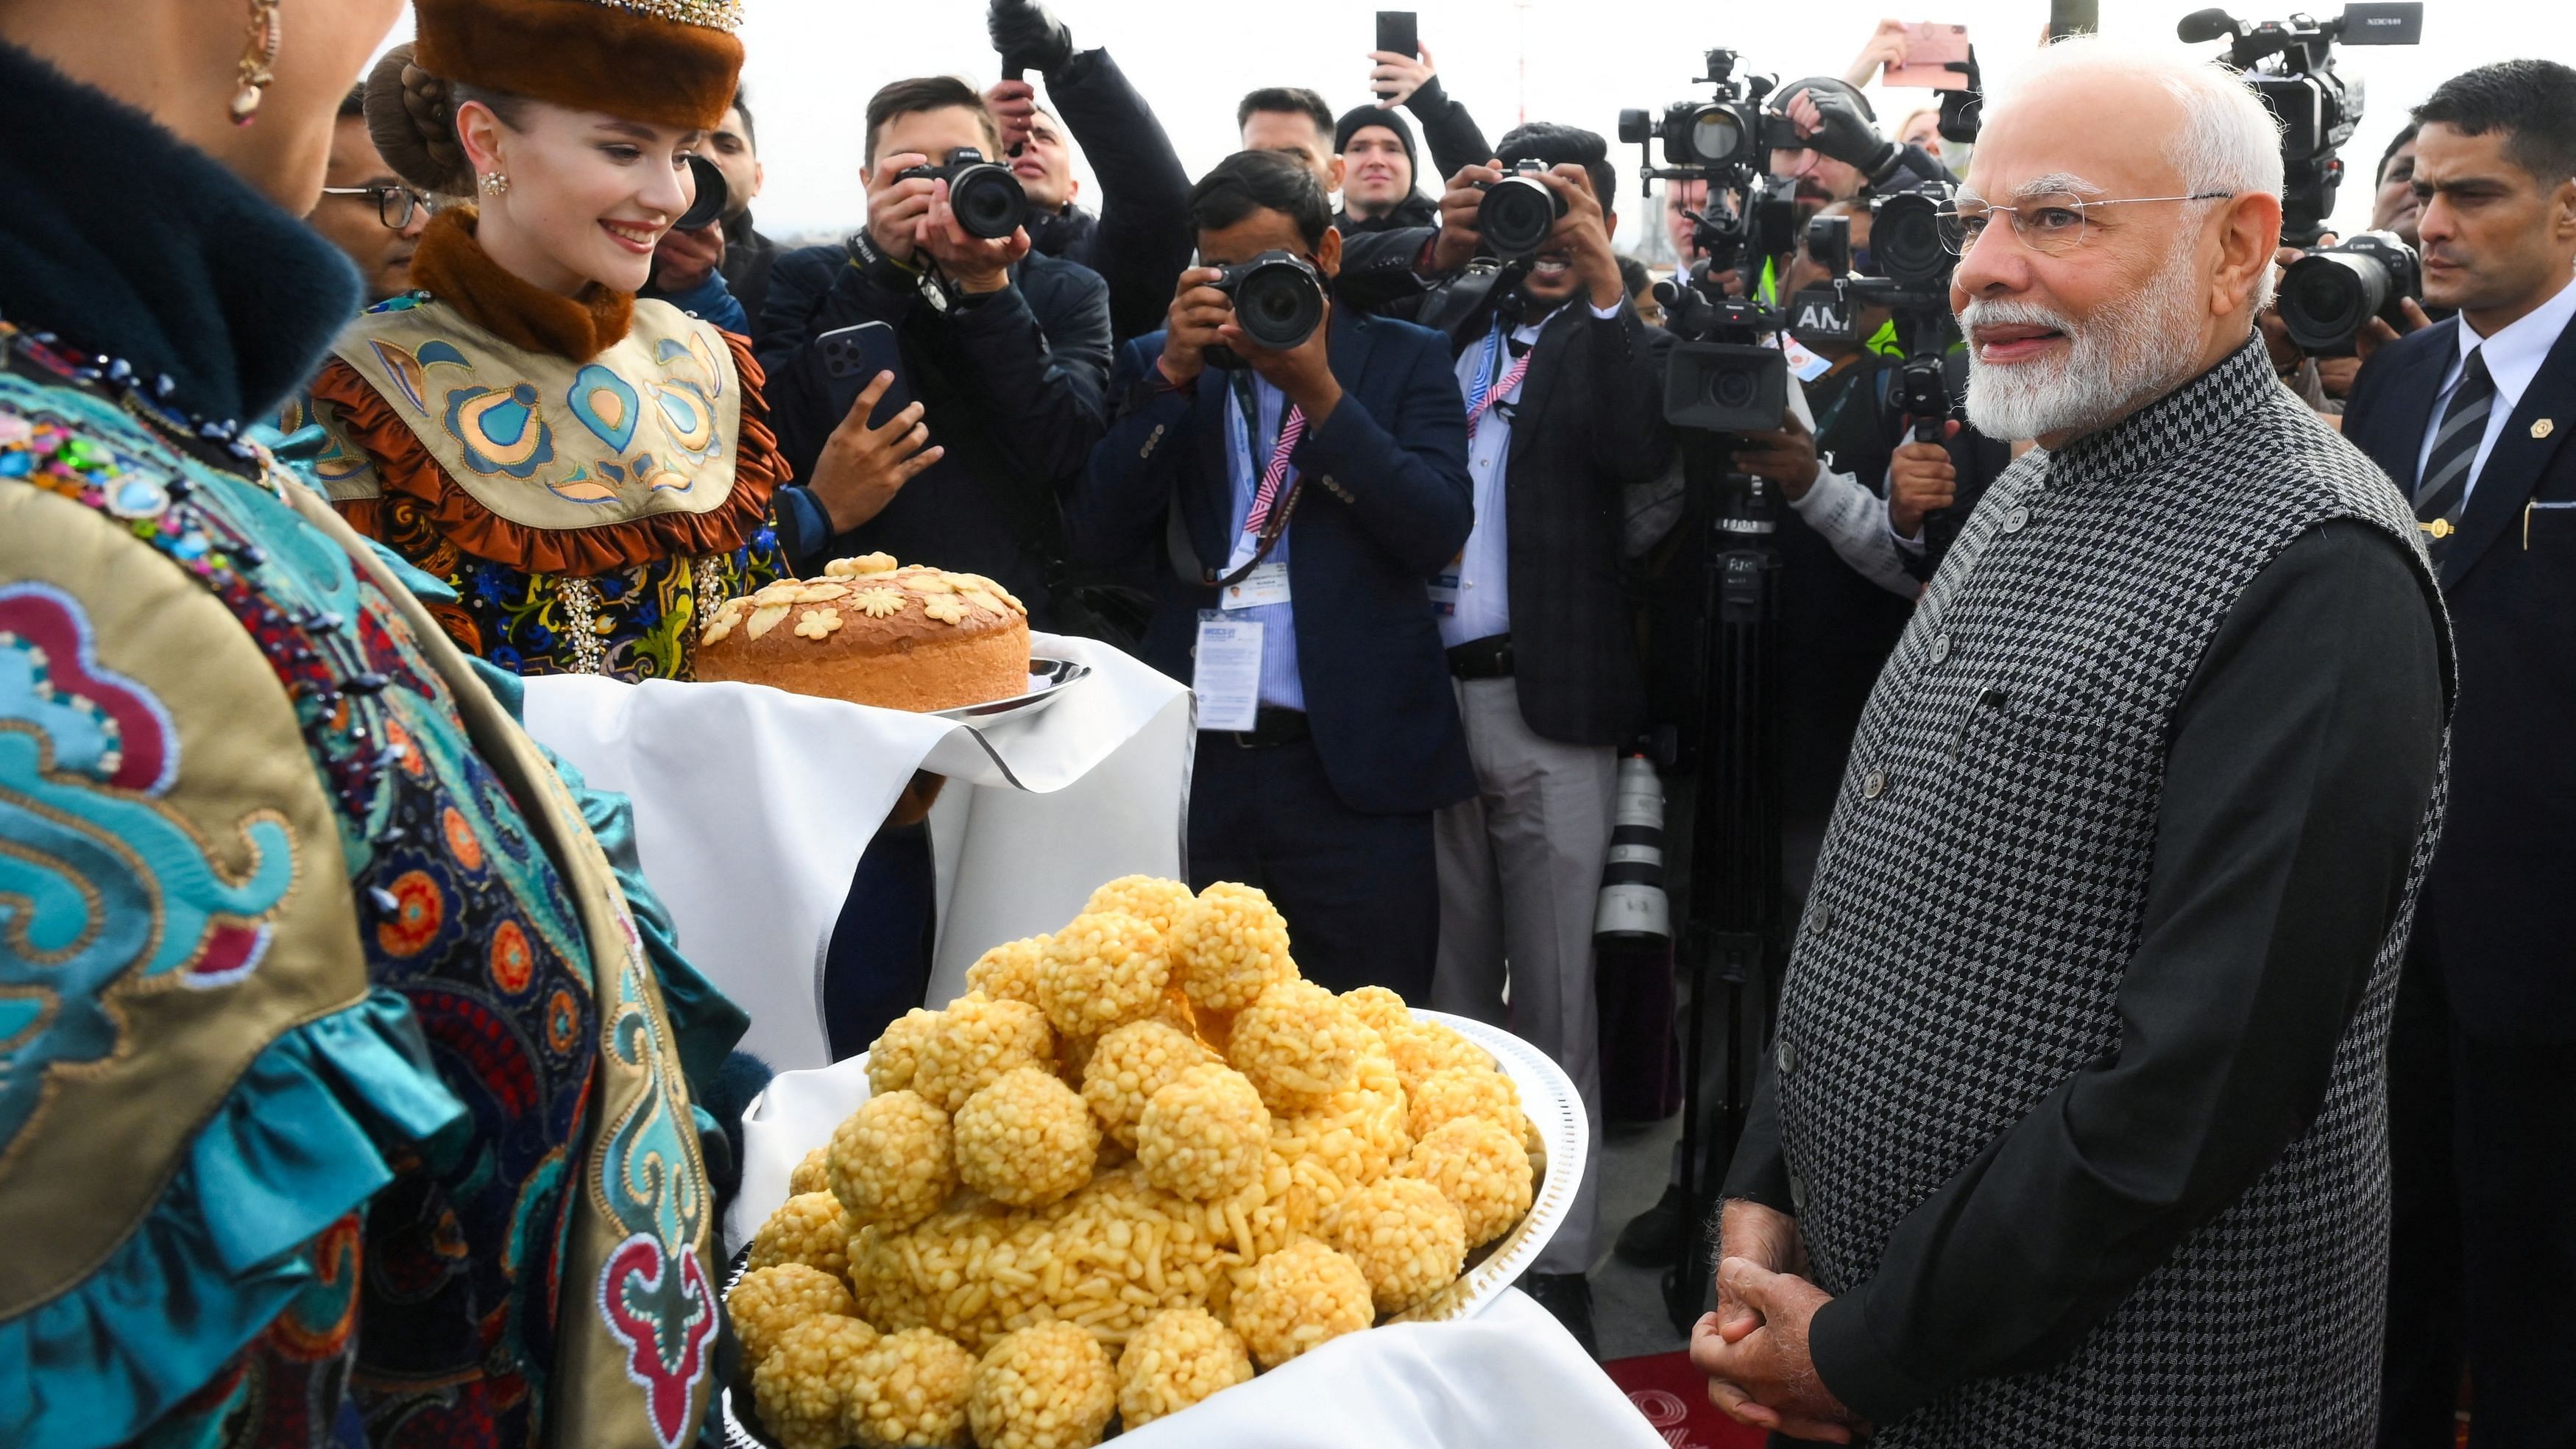
<path fill-rule="evenodd" d="M 2239 21 L 2226 10 L 2192 10 L 2174 26 L 2184 41 L 2228 41 L 2228 64 L 2280 116 L 2280 239 L 2313 247 L 2344 183 L 2336 149 L 2362 118 L 2362 82 L 2334 72 L 2334 41 L 2347 46 L 2411 46 L 2424 39 L 2424 0 L 2357 0 L 2334 21 Z"/>

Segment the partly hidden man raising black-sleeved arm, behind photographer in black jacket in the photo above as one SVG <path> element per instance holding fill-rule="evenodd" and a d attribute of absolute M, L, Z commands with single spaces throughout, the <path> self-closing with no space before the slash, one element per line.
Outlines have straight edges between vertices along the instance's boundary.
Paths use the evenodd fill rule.
<path fill-rule="evenodd" d="M 1074 33 L 1033 0 L 992 0 L 984 18 L 1007 69 L 1046 75 L 1046 100 L 1025 80 L 984 93 L 1002 126 L 1002 154 L 1028 190 L 1028 250 L 1100 273 L 1110 286 L 1118 340 L 1162 327 L 1172 275 L 1190 265 L 1190 172 L 1154 108 L 1128 85 L 1105 49 L 1077 51 Z M 1100 178 L 1100 211 L 1074 203 L 1082 147 Z"/>

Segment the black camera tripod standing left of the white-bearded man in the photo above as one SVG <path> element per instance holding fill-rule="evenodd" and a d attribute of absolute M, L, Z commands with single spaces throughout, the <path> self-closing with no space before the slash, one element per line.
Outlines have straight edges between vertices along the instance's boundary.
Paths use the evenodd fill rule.
<path fill-rule="evenodd" d="M 1703 1174 L 1710 1104 L 1700 1081 L 1708 1060 L 1710 991 L 1723 988 L 1726 1078 L 1716 1112 L 1726 1158 L 1744 1138 L 1752 1107 L 1744 1060 L 1744 991 L 1775 955 L 1780 921 L 1780 739 L 1777 739 L 1777 484 L 1734 471 L 1734 438 L 1682 430 L 1682 484 L 1705 515 L 1700 558 L 1700 721 L 1698 793 L 1690 821 L 1690 970 L 1685 1032 L 1682 1259 L 1664 1271 L 1664 1310 L 1687 1331 L 1700 1318 L 1713 1243 L 1705 1225 L 1718 1202 L 1718 1174 Z"/>

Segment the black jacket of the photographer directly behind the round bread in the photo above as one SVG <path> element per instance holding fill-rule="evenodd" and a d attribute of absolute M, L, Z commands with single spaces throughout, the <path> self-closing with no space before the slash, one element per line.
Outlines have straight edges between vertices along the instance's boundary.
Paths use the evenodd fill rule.
<path fill-rule="evenodd" d="M 840 427 L 817 337 L 855 322 L 894 327 L 907 383 L 930 440 L 945 448 L 868 522 L 827 538 L 822 510 L 781 489 L 778 530 L 804 566 L 848 553 L 894 553 L 997 579 L 1028 605 L 1036 628 L 1056 628 L 1051 579 L 1061 579 L 1061 494 L 1108 422 L 1108 286 L 1087 268 L 1030 252 L 1012 286 L 935 311 L 914 286 L 884 286 L 848 247 L 801 247 L 778 257 L 757 335 L 768 368 L 770 427 L 799 479 Z"/>

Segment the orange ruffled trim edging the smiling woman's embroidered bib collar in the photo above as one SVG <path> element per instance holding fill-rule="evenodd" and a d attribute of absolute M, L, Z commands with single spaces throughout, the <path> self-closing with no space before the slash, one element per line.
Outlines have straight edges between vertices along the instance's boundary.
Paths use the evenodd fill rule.
<path fill-rule="evenodd" d="M 734 438 L 734 489 L 708 512 L 659 512 L 595 528 L 528 528 L 500 517 L 461 489 L 438 458 L 355 368 L 332 358 L 312 396 L 332 404 L 340 430 L 376 466 L 384 497 L 337 504 L 350 528 L 384 538 L 384 504 L 404 497 L 459 551 L 531 574 L 598 577 L 677 553 L 732 553 L 770 522 L 773 494 L 793 476 L 770 432 L 768 373 L 750 337 L 719 332 L 742 389 L 742 432 Z"/>

